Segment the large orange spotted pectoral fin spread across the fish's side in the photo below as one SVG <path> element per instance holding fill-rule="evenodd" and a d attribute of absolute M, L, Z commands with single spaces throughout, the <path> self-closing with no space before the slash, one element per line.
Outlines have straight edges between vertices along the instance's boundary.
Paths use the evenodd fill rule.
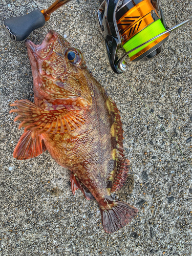
<path fill-rule="evenodd" d="M 32 131 L 32 138 L 35 133 L 65 133 L 72 132 L 82 126 L 85 120 L 79 111 L 69 111 L 65 106 L 58 108 L 53 106 L 49 110 L 38 108 L 29 100 L 16 100 L 11 106 L 16 106 L 18 109 L 11 110 L 10 113 L 18 114 L 14 121 L 22 121 L 20 127 L 25 127 L 25 132 Z"/>

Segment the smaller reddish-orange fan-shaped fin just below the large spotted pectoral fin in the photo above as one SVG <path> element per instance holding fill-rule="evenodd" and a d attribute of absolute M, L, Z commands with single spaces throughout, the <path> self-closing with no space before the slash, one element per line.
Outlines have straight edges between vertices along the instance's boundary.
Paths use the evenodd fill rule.
<path fill-rule="evenodd" d="M 18 140 L 13 152 L 13 157 L 18 160 L 37 157 L 47 150 L 44 140 L 37 133 L 34 138 L 31 136 L 32 131 L 25 132 Z"/>

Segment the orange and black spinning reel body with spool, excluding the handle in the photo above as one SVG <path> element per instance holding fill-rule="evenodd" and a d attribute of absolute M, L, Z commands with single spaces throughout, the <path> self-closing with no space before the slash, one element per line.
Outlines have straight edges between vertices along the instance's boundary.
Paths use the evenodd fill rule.
<path fill-rule="evenodd" d="M 126 71 L 126 57 L 146 61 L 157 56 L 169 33 L 192 19 L 168 28 L 159 0 L 104 0 L 97 18 L 111 68 L 117 74 Z M 126 53 L 119 58 L 121 47 Z"/>

